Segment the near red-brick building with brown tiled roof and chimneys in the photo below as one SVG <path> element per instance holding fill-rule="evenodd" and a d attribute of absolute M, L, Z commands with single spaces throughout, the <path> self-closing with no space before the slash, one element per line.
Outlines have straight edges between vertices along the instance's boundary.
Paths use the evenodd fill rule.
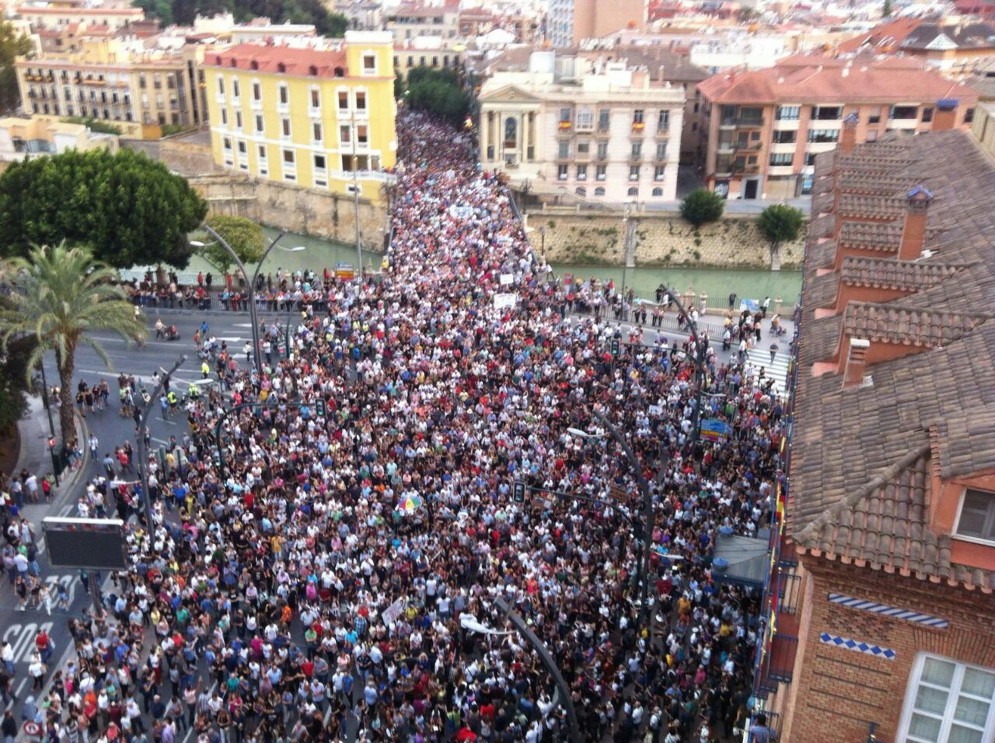
<path fill-rule="evenodd" d="M 967 133 L 816 160 L 757 684 L 782 740 L 995 740 L 993 236 Z"/>

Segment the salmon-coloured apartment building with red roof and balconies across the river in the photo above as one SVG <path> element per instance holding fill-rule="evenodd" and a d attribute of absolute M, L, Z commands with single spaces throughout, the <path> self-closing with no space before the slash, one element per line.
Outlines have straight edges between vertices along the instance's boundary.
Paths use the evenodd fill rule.
<path fill-rule="evenodd" d="M 795 55 L 775 67 L 722 73 L 698 85 L 708 187 L 730 198 L 808 193 L 815 157 L 856 116 L 857 142 L 889 131 L 969 125 L 978 95 L 911 58 Z"/>

